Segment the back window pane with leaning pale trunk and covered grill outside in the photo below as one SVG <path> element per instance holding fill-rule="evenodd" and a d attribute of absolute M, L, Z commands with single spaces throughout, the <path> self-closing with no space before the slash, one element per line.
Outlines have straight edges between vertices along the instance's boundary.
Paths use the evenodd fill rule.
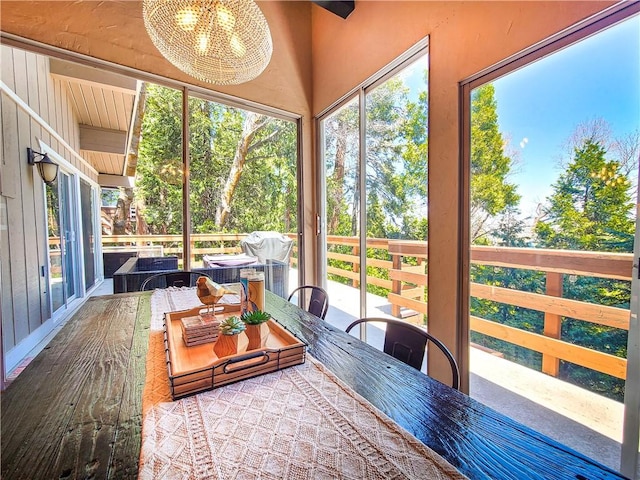
<path fill-rule="evenodd" d="M 255 231 L 297 242 L 295 122 L 191 96 L 189 133 L 191 267 L 236 252 L 239 236 Z"/>

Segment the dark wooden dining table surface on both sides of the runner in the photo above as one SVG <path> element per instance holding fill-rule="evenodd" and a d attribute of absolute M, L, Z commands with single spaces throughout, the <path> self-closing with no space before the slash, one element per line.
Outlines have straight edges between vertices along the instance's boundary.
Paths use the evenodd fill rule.
<path fill-rule="evenodd" d="M 91 298 L 2 395 L 2 478 L 136 478 L 150 293 Z M 267 292 L 266 310 L 470 478 L 623 478 Z"/>

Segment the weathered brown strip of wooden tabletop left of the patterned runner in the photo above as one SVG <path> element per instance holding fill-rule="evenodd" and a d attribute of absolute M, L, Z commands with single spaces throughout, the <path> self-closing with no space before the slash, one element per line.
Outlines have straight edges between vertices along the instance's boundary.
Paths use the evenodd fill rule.
<path fill-rule="evenodd" d="M 149 309 L 89 299 L 2 393 L 4 480 L 137 477 Z"/>

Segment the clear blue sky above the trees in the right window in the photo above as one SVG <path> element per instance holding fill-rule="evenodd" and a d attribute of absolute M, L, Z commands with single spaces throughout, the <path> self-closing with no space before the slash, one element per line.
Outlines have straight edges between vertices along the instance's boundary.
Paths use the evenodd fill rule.
<path fill-rule="evenodd" d="M 640 129 L 640 17 L 494 81 L 498 121 L 518 151 L 511 181 L 532 215 L 551 193 L 576 127 L 604 119 L 615 137 Z"/>

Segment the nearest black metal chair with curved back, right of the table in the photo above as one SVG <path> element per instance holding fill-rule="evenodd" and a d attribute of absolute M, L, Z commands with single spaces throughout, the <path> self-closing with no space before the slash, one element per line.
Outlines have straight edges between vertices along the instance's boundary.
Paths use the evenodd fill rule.
<path fill-rule="evenodd" d="M 366 324 L 368 322 L 386 323 L 384 353 L 418 370 L 422 368 L 424 352 L 427 350 L 429 342 L 438 347 L 451 365 L 451 386 L 456 390 L 460 389 L 460 370 L 458 369 L 458 364 L 445 344 L 436 337 L 417 325 L 391 318 L 360 318 L 351 323 L 351 325 L 347 327 L 346 332 L 349 333 L 356 325 Z"/>

